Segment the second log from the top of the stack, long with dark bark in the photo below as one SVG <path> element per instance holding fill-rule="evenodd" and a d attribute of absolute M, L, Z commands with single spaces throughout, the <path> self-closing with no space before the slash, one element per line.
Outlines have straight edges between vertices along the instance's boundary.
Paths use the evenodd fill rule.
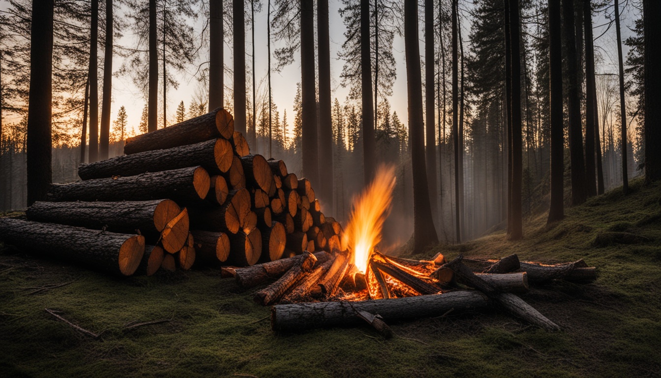
<path fill-rule="evenodd" d="M 150 150 L 81 164 L 78 167 L 78 175 L 83 180 L 103 179 L 169 171 L 196 165 L 202 166 L 209 173 L 217 174 L 227 172 L 232 165 L 233 156 L 232 145 L 227 140 L 212 139 L 166 150 Z"/>

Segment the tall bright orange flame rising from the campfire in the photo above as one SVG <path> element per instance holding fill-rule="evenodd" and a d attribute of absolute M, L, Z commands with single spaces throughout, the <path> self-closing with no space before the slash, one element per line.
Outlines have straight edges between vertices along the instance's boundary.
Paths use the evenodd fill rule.
<path fill-rule="evenodd" d="M 359 271 L 366 271 L 369 255 L 381 241 L 381 229 L 390 214 L 395 181 L 395 167 L 381 165 L 369 186 L 353 199 L 344 238 L 348 238 L 346 242 Z"/>

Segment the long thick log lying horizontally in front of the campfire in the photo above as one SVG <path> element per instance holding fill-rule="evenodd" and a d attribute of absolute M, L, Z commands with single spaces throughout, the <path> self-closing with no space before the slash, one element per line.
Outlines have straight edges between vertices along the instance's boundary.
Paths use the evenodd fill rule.
<path fill-rule="evenodd" d="M 397 299 L 360 302 L 319 302 L 271 307 L 271 328 L 277 332 L 297 332 L 309 328 L 356 326 L 364 324 L 357 311 L 379 314 L 386 322 L 440 316 L 449 310 L 486 307 L 488 297 L 478 291 L 453 291 Z"/>

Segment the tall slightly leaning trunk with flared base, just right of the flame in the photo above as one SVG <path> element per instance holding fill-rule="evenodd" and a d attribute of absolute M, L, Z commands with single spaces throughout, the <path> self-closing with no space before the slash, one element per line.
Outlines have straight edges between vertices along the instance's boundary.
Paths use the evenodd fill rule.
<path fill-rule="evenodd" d="M 405 2 L 405 46 L 407 61 L 408 134 L 410 135 L 413 174 L 413 214 L 415 253 L 438 242 L 434 219 L 429 204 L 429 186 L 424 161 L 424 122 L 422 118 L 422 75 L 420 46 L 418 45 L 418 5 Z"/>

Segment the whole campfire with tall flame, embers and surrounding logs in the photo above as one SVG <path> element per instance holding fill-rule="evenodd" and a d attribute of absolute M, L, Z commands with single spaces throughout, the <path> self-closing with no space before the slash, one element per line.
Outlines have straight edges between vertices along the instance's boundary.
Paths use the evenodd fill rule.
<path fill-rule="evenodd" d="M 460 255 L 446 261 L 437 254 L 432 260 L 418 261 L 381 254 L 378 244 L 394 187 L 394 169 L 381 167 L 373 182 L 354 199 L 342 235 L 346 250 L 304 252 L 231 272 L 243 288 L 276 279 L 254 295 L 257 303 L 273 305 L 274 330 L 368 322 L 389 337 L 384 320 L 440 316 L 491 305 L 525 322 L 559 330 L 516 293 L 527 291 L 529 283 L 553 279 L 587 283 L 596 277 L 595 268 L 582 260 L 542 265 L 519 261 L 516 255 L 500 260 Z"/>

